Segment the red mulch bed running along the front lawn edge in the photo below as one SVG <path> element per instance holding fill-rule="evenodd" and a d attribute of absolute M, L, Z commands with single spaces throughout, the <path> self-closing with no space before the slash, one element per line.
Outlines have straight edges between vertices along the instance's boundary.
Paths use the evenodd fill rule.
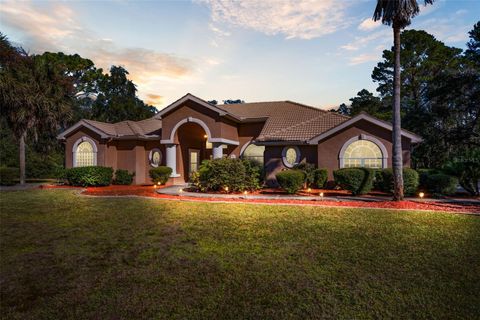
<path fill-rule="evenodd" d="M 447 212 L 463 212 L 463 213 L 480 213 L 480 206 L 478 205 L 460 205 L 442 202 L 416 202 L 416 201 L 381 201 L 381 202 L 365 202 L 365 201 L 333 201 L 333 200 L 283 200 L 283 199 L 223 199 L 223 198 L 200 198 L 190 196 L 171 196 L 158 194 L 155 192 L 157 188 L 153 186 L 117 186 L 112 185 L 108 187 L 71 187 L 71 186 L 43 186 L 45 189 L 86 189 L 83 194 L 91 196 L 144 196 L 159 199 L 179 200 L 185 199 L 190 201 L 199 202 L 233 202 L 233 203 L 263 203 L 263 204 L 281 204 L 281 205 L 310 205 L 310 206 L 331 206 L 331 207 L 356 207 L 356 208 L 385 208 L 385 209 L 409 209 L 409 210 L 434 210 L 434 211 L 447 211 Z M 162 188 L 162 187 L 159 187 Z M 335 195 L 349 195 L 348 192 L 339 190 L 322 190 L 325 196 Z M 264 189 L 257 194 L 279 194 L 275 189 Z M 304 192 L 304 195 L 318 195 L 319 190 L 312 190 L 312 192 Z M 280 192 L 281 193 L 281 192 Z"/>

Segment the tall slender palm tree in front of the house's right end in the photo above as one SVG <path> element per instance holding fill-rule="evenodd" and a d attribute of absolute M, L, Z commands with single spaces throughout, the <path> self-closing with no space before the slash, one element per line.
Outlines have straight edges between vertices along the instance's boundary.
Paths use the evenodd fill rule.
<path fill-rule="evenodd" d="M 424 0 L 425 5 L 434 0 Z M 393 47 L 395 52 L 395 67 L 393 72 L 393 200 L 403 199 L 403 157 L 402 157 L 402 126 L 400 117 L 400 32 L 408 26 L 412 18 L 419 13 L 417 0 L 377 0 L 373 20 L 393 28 Z"/>

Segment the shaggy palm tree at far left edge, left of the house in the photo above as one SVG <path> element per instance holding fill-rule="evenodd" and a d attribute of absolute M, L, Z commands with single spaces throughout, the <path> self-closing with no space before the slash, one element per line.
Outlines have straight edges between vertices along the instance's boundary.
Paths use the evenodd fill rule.
<path fill-rule="evenodd" d="M 72 83 L 59 66 L 30 56 L 0 33 L 0 107 L 19 143 L 20 184 L 25 184 L 25 141 L 56 130 L 70 117 Z"/>

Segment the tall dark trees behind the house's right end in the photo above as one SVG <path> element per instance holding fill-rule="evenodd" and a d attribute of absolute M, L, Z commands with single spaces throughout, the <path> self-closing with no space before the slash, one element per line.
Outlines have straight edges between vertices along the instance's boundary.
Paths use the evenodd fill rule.
<path fill-rule="evenodd" d="M 413 149 L 414 167 L 442 168 L 462 159 L 480 167 L 480 22 L 469 32 L 466 50 L 422 30 L 406 30 L 401 37 L 402 128 L 423 138 Z M 362 89 L 333 111 L 392 121 L 393 70 L 392 48 L 372 71 L 377 94 Z"/>

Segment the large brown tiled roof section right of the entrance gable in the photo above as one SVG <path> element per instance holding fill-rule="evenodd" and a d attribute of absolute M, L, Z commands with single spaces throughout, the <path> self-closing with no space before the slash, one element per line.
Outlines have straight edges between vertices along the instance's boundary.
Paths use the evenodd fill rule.
<path fill-rule="evenodd" d="M 258 141 L 305 141 L 349 117 L 292 101 L 220 105 L 242 119 L 267 117 Z"/>

